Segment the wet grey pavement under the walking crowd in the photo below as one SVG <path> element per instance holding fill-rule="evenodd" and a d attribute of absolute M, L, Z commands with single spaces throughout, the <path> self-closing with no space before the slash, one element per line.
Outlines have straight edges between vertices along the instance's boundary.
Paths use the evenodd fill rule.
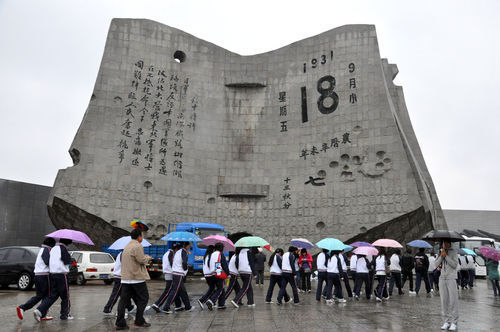
<path fill-rule="evenodd" d="M 201 311 L 196 300 L 206 290 L 206 284 L 199 277 L 187 283 L 194 311 L 172 315 L 147 314 L 146 320 L 152 324 L 149 329 L 134 328 L 129 318 L 131 330 L 145 331 L 439 331 L 442 324 L 438 295 L 427 297 L 393 296 L 388 302 L 376 303 L 374 299 L 360 301 L 348 299 L 346 304 L 326 305 L 317 303 L 313 292 L 300 294 L 301 305 L 264 303 L 267 282 L 263 288 L 254 286 L 256 306 L 234 309 L 230 303 L 225 311 Z M 163 290 L 164 282 L 148 282 L 150 303 Z M 408 287 L 406 285 L 406 287 Z M 405 290 L 407 291 L 407 289 Z M 59 303 L 50 310 L 53 321 L 38 323 L 33 319 L 32 310 L 25 313 L 24 321 L 16 316 L 16 306 L 28 300 L 34 291 L 21 292 L 11 286 L 0 290 L 0 331 L 113 331 L 114 317 L 103 317 L 111 286 L 102 282 L 89 282 L 85 286 L 71 286 L 71 314 L 73 321 L 59 320 Z M 477 280 L 472 290 L 459 291 L 460 331 L 500 331 L 500 297 L 493 296 L 491 285 L 486 280 Z M 277 296 L 275 289 L 274 301 Z M 230 298 L 232 298 L 231 296 Z M 114 308 L 116 311 L 116 306 Z"/>

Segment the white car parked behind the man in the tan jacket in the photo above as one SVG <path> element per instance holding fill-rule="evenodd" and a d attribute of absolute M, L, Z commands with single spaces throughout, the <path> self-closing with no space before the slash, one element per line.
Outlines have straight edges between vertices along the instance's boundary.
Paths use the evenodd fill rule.
<path fill-rule="evenodd" d="M 103 280 L 107 285 L 113 283 L 113 256 L 99 251 L 71 251 L 70 254 L 78 267 L 78 285 L 85 285 L 88 280 Z"/>

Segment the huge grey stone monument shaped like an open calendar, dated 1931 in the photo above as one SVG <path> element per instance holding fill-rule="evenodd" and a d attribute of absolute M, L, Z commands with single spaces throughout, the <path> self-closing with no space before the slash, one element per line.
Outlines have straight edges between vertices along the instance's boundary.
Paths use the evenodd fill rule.
<path fill-rule="evenodd" d="M 113 19 L 83 121 L 48 201 L 97 245 L 146 221 L 293 237 L 417 238 L 446 228 L 396 65 L 373 25 L 241 56 Z"/>

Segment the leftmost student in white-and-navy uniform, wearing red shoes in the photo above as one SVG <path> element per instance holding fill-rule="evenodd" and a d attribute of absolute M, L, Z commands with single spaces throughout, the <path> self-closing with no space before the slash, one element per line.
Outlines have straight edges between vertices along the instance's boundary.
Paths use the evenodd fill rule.
<path fill-rule="evenodd" d="M 50 295 L 50 275 L 49 275 L 49 260 L 50 250 L 56 245 L 56 240 L 51 237 L 43 241 L 42 248 L 38 251 L 35 260 L 35 290 L 36 295 L 28 302 L 21 304 L 16 308 L 17 317 L 24 318 L 24 312 L 33 308 L 38 302 L 42 301 Z M 40 320 L 52 320 L 52 317 L 45 315 Z"/>

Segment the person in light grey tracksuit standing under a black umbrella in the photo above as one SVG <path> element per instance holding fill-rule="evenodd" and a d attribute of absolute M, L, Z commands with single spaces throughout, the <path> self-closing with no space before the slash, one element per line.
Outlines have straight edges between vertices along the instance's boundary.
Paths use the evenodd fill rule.
<path fill-rule="evenodd" d="M 439 278 L 439 293 L 444 324 L 441 326 L 441 330 L 456 331 L 458 328 L 458 291 L 455 288 L 455 278 L 457 276 L 458 257 L 457 252 L 451 248 L 449 240 L 443 241 L 440 255 L 435 264 L 442 266 Z"/>

